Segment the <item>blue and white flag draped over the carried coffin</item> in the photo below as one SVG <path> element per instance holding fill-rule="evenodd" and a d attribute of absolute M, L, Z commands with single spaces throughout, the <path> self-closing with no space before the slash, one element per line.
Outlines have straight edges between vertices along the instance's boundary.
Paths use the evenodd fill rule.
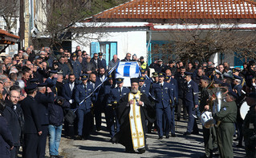
<path fill-rule="evenodd" d="M 120 61 L 116 68 L 116 78 L 124 78 L 124 86 L 131 86 L 130 78 L 140 76 L 140 66 L 136 61 Z"/>

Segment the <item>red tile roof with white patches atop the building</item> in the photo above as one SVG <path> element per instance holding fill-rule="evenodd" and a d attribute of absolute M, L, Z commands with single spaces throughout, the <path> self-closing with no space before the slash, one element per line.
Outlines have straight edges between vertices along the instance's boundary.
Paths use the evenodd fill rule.
<path fill-rule="evenodd" d="M 112 19 L 227 19 L 256 18 L 249 0 L 132 0 L 96 14 Z"/>

